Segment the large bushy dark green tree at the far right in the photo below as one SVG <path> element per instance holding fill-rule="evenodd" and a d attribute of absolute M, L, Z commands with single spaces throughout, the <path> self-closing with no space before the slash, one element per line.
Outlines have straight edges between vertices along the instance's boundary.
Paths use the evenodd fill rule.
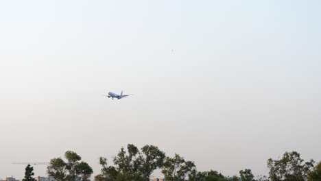
<path fill-rule="evenodd" d="M 298 152 L 285 152 L 280 160 L 268 160 L 271 181 L 305 181 L 313 167 L 313 160 L 304 162 Z"/>

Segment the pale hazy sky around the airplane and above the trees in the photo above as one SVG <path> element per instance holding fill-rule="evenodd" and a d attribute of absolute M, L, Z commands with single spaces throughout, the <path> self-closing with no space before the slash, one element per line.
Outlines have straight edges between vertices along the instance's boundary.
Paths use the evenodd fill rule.
<path fill-rule="evenodd" d="M 321 160 L 320 1 L 1 1 L 0 178 L 157 145 L 233 176 Z M 173 51 L 171 51 L 173 50 Z M 132 97 L 111 100 L 112 91 Z M 45 176 L 45 166 L 35 166 Z M 161 176 L 154 173 L 154 176 Z"/>

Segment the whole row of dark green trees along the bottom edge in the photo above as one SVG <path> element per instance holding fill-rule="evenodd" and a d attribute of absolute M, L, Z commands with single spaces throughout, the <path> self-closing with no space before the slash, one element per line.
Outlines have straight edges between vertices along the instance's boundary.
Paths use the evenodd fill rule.
<path fill-rule="evenodd" d="M 93 169 L 75 152 L 68 151 L 64 158 L 53 158 L 47 174 L 57 181 L 88 181 Z M 254 176 L 250 169 L 239 171 L 238 176 L 223 176 L 217 171 L 197 171 L 195 163 L 178 154 L 174 157 L 153 145 L 141 149 L 128 144 L 121 148 L 108 164 L 107 158 L 99 158 L 101 173 L 94 181 L 149 181 L 156 169 L 160 169 L 167 181 L 321 181 L 321 162 L 305 162 L 298 152 L 285 152 L 279 160 L 268 159 L 268 176 Z M 33 169 L 29 165 L 23 181 L 33 181 Z"/>

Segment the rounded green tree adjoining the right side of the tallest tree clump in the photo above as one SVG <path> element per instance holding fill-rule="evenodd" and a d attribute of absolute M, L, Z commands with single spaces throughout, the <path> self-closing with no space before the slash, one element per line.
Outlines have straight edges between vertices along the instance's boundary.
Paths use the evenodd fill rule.
<path fill-rule="evenodd" d="M 174 158 L 165 159 L 162 173 L 167 181 L 184 181 L 187 176 L 193 178 L 195 170 L 194 162 L 185 161 L 184 158 L 175 154 Z"/>

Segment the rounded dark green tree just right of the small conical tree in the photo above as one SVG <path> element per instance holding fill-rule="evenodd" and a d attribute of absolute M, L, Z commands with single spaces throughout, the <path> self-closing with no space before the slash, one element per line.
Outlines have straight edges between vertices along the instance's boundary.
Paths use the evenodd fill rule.
<path fill-rule="evenodd" d="M 86 162 L 80 162 L 82 158 L 78 154 L 67 151 L 64 158 L 67 162 L 62 158 L 50 160 L 50 165 L 47 167 L 49 176 L 58 181 L 84 181 L 91 177 L 93 169 Z"/>

